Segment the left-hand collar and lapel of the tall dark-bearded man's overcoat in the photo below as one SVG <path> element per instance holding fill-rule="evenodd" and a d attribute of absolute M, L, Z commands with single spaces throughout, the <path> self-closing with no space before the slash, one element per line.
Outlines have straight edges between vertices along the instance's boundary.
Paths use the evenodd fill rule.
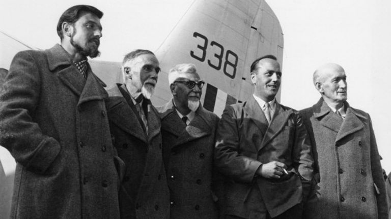
<path fill-rule="evenodd" d="M 69 54 L 59 44 L 46 50 L 46 54 L 50 71 L 55 72 L 65 86 L 80 96 L 86 82 L 72 64 Z"/>

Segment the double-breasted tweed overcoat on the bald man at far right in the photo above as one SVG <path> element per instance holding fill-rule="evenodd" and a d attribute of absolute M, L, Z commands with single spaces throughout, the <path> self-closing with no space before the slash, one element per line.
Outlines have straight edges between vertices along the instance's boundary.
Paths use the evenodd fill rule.
<path fill-rule="evenodd" d="M 315 159 L 306 218 L 388 218 L 384 178 L 370 116 L 345 102 L 346 117 L 321 98 L 303 109 Z"/>

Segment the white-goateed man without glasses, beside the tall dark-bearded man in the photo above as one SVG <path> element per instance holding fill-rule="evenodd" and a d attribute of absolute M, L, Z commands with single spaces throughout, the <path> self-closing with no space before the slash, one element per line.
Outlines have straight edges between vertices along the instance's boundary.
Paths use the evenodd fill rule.
<path fill-rule="evenodd" d="M 169 190 L 163 165 L 160 118 L 151 104 L 159 61 L 134 50 L 122 62 L 123 84 L 109 89 L 111 137 L 126 164 L 119 192 L 121 218 L 169 218 Z"/>

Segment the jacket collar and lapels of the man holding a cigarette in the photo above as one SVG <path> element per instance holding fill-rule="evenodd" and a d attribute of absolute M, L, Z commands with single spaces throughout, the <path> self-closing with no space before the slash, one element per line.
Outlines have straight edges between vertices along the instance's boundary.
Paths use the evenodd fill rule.
<path fill-rule="evenodd" d="M 291 108 L 285 107 L 276 101 L 275 112 L 270 125 L 268 125 L 262 108 L 259 106 L 254 97 L 250 97 L 250 99 L 246 102 L 244 105 L 244 111 L 263 133 L 262 142 L 260 145 L 257 145 L 258 151 L 265 147 L 266 144 L 268 144 L 283 130 L 290 115 L 293 113 Z"/>

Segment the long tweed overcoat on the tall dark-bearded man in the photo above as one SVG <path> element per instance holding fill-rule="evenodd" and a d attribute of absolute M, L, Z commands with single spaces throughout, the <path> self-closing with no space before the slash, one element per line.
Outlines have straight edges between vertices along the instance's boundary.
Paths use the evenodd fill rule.
<path fill-rule="evenodd" d="M 15 55 L 0 95 L 0 144 L 17 162 L 11 218 L 119 218 L 102 83 L 60 45 Z"/>

